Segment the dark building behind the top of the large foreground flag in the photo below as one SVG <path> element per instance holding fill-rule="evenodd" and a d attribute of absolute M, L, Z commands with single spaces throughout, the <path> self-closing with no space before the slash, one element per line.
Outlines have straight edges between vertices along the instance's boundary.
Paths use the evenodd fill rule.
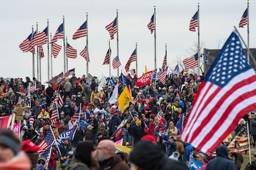
<path fill-rule="evenodd" d="M 217 57 L 217 55 L 219 54 L 219 51 L 221 49 L 204 49 L 204 56 L 209 53 L 208 55 L 208 63 L 205 64 L 204 63 L 204 72 L 208 72 L 208 69 L 210 69 L 210 67 L 212 66 L 213 62 L 215 61 L 215 58 Z M 255 60 L 256 60 L 256 49 L 250 49 L 251 50 L 251 53 L 252 55 L 254 56 Z M 246 55 L 247 54 L 247 49 L 244 49 L 244 54 Z M 202 59 L 201 59 L 202 61 Z M 256 65 L 255 63 L 252 61 L 252 59 L 250 58 L 249 59 L 250 61 L 250 64 L 252 66 L 252 68 L 254 68 L 254 70 L 256 71 Z"/>

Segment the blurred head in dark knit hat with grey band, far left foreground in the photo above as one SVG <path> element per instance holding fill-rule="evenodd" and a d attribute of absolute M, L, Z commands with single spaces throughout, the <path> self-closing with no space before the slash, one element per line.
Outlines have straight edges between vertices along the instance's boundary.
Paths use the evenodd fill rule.
<path fill-rule="evenodd" d="M 0 163 L 9 161 L 20 151 L 20 140 L 9 129 L 0 131 Z"/>

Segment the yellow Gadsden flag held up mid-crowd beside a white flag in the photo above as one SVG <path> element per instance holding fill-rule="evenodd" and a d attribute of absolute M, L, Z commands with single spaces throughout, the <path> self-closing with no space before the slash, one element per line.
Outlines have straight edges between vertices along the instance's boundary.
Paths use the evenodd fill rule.
<path fill-rule="evenodd" d="M 132 96 L 130 95 L 129 90 L 127 89 L 127 86 L 124 87 L 123 92 L 119 95 L 118 97 L 118 102 L 119 102 L 119 108 L 120 111 L 124 112 L 124 109 L 126 109 L 127 107 L 129 107 L 129 103 L 134 103 L 132 100 Z"/>

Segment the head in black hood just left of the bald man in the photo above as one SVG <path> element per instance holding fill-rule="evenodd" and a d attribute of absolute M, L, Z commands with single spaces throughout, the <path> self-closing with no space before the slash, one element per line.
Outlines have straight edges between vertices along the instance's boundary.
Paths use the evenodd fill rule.
<path fill-rule="evenodd" d="M 74 157 L 90 167 L 92 160 L 94 160 L 94 158 L 96 157 L 96 151 L 93 146 L 93 141 L 80 141 L 77 144 L 76 151 L 74 152 Z"/>

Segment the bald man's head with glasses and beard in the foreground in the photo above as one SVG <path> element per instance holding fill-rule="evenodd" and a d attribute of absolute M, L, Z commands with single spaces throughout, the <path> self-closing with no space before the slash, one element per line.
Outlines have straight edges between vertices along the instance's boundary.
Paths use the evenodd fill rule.
<path fill-rule="evenodd" d="M 98 161 L 104 161 L 115 155 L 115 143 L 112 140 L 102 140 L 97 146 Z"/>

